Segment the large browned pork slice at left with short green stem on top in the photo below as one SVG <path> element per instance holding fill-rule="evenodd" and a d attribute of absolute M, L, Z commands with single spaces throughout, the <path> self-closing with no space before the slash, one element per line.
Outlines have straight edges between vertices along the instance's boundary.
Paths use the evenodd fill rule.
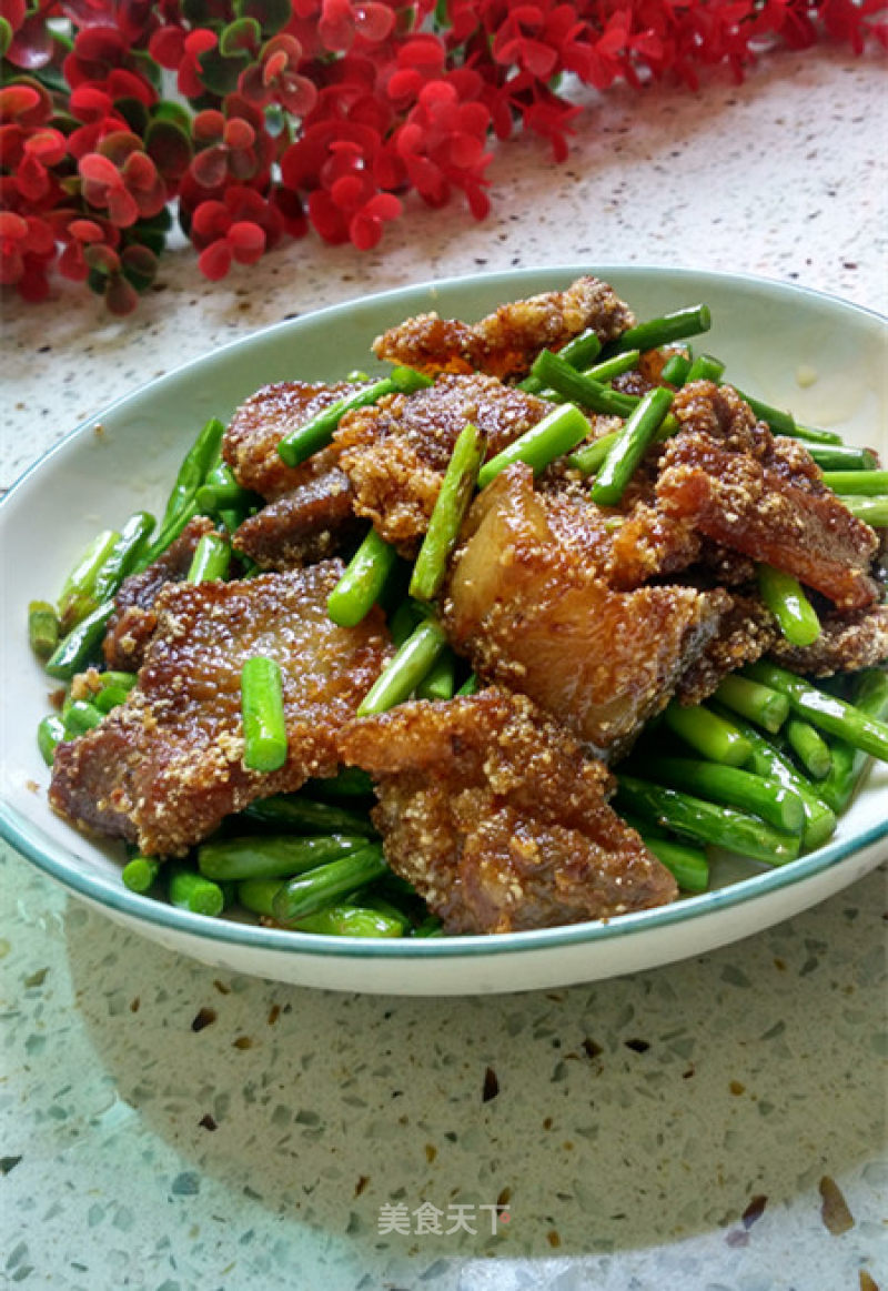
<path fill-rule="evenodd" d="M 329 560 L 244 582 L 164 587 L 157 627 L 125 704 L 56 751 L 49 800 L 74 824 L 181 856 L 253 799 L 337 767 L 336 738 L 388 655 L 381 612 L 337 627 Z M 240 671 L 253 655 L 283 673 L 289 755 L 280 771 L 244 766 Z"/>

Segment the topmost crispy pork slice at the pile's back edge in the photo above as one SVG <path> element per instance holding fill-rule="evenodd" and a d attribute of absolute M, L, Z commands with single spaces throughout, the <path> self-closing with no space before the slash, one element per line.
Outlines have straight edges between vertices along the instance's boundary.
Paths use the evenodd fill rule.
<path fill-rule="evenodd" d="M 541 350 L 560 350 L 587 328 L 605 343 L 634 324 L 635 315 L 613 288 L 585 276 L 564 292 L 501 305 L 479 323 L 418 314 L 377 337 L 373 352 L 430 376 L 487 372 L 509 381 L 525 376 Z"/>

